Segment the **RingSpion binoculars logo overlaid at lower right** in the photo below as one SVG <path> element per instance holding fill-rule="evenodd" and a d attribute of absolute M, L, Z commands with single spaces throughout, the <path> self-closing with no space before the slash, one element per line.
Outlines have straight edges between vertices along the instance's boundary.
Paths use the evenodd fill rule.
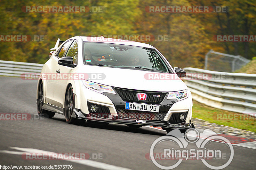
<path fill-rule="evenodd" d="M 221 147 L 212 149 L 210 144 L 212 141 L 221 142 L 228 150 Z M 168 145 L 166 145 L 166 142 L 168 142 Z M 196 147 L 188 147 L 188 144 L 191 143 L 194 143 Z M 158 148 L 161 144 L 164 144 L 164 149 Z M 166 146 L 172 147 L 168 148 Z M 174 148 L 174 146 L 177 147 Z M 162 150 L 162 152 L 155 152 L 156 150 Z M 158 156 L 156 157 L 156 155 Z M 234 148 L 227 138 L 219 136 L 210 129 L 205 129 L 203 133 L 199 133 L 196 129 L 188 129 L 184 135 L 180 133 L 180 130 L 175 129 L 169 132 L 167 136 L 157 138 L 150 147 L 150 153 L 145 154 L 145 158 L 148 159 L 148 156 L 152 162 L 161 169 L 176 168 L 183 160 L 189 159 L 201 160 L 205 166 L 211 169 L 223 169 L 232 162 Z M 163 165 L 163 162 L 156 161 L 161 159 L 177 159 L 178 161 L 168 161 L 169 166 L 167 166 L 167 163 Z M 211 159 L 214 161 L 226 159 L 227 161 L 220 161 L 218 164 L 214 164 L 214 161 L 206 161 Z"/>

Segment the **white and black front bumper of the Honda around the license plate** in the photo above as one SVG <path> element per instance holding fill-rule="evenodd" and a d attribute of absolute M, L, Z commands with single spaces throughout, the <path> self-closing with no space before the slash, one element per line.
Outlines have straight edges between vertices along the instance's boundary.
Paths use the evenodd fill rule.
<path fill-rule="evenodd" d="M 84 89 L 87 90 L 87 89 Z M 170 129 L 189 129 L 193 128 L 193 124 L 191 123 L 191 114 L 192 114 L 192 98 L 191 93 L 187 99 L 184 100 L 166 100 L 167 95 L 164 96 L 162 101 L 155 103 L 160 105 L 159 113 L 161 112 L 163 116 L 161 119 L 143 119 L 141 117 L 137 118 L 127 118 L 124 117 L 124 114 L 120 114 L 120 109 L 125 110 L 125 103 L 127 100 L 122 98 L 116 89 L 114 88 L 116 94 L 111 93 L 98 93 L 88 89 L 88 92 L 84 92 L 88 94 L 87 96 L 94 96 L 94 98 L 84 98 L 84 95 L 81 95 L 80 102 L 81 109 L 74 109 L 73 114 L 71 115 L 74 118 L 84 119 L 84 120 L 92 120 L 98 122 L 109 122 L 109 123 L 119 123 L 119 124 L 135 124 L 141 126 L 156 126 Z M 83 93 L 82 93 L 83 94 Z M 84 102 L 85 101 L 85 102 Z M 134 101 L 128 101 L 134 102 Z M 108 108 L 108 112 L 106 109 L 100 113 L 92 113 L 89 111 L 89 106 L 91 104 L 95 104 L 97 106 L 103 106 Z M 142 102 L 141 102 L 142 103 Z M 154 104 L 154 103 L 150 103 Z M 79 107 L 78 107 L 79 108 Z M 129 111 L 129 110 L 127 110 Z M 182 122 L 173 121 L 173 117 L 177 117 L 179 119 L 179 114 L 185 113 L 186 119 Z M 99 116 L 99 114 L 101 114 Z M 136 113 L 135 113 L 136 114 Z M 153 113 L 144 112 L 144 114 L 154 115 Z M 173 115 L 173 116 L 172 116 Z M 174 116 L 175 115 L 175 116 Z"/>

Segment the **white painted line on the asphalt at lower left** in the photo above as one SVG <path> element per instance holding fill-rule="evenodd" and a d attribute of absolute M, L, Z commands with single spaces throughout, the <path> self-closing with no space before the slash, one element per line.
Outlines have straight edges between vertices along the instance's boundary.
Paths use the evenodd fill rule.
<path fill-rule="evenodd" d="M 33 149 L 33 148 L 19 148 L 19 147 L 10 147 L 10 148 L 11 149 L 16 149 L 16 150 L 19 150 L 19 151 L 23 151 L 23 152 L 5 151 L 5 150 L 2 150 L 0 152 L 1 153 L 15 154 L 15 155 L 22 155 L 23 153 L 26 153 L 26 152 L 28 152 L 28 153 L 55 153 L 55 152 L 43 151 L 43 150 Z M 88 159 L 60 159 L 60 160 L 66 160 L 66 161 L 70 161 L 70 162 L 74 162 L 74 163 L 78 163 L 78 164 L 82 164 L 82 165 L 86 165 L 86 166 L 92 166 L 92 167 L 95 167 L 95 168 L 105 169 L 105 170 L 131 170 L 131 169 L 128 169 L 128 168 L 115 166 L 115 165 L 109 165 L 109 164 L 106 164 L 106 163 L 97 162 L 97 161 L 88 160 Z"/>

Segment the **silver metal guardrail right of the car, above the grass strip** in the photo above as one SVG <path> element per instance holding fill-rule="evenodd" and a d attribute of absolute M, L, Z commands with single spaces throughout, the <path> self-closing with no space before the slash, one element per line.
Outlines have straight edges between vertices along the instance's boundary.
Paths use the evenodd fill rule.
<path fill-rule="evenodd" d="M 256 113 L 256 74 L 185 68 L 193 100 L 243 114 Z"/>

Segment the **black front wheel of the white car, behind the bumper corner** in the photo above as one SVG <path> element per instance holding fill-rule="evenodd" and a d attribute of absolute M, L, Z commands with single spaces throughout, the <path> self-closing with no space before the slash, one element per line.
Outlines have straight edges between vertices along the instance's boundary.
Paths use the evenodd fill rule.
<path fill-rule="evenodd" d="M 64 103 L 64 115 L 65 115 L 66 122 L 70 124 L 84 123 L 84 120 L 71 117 L 74 108 L 75 108 L 75 95 L 73 92 L 72 85 L 70 85 L 68 87 L 68 90 L 65 96 L 65 103 Z"/>

